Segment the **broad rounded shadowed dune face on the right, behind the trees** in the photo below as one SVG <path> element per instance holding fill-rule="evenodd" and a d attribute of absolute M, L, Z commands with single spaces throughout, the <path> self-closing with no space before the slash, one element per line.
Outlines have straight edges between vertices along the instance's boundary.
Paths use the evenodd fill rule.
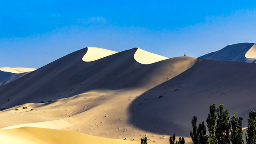
<path fill-rule="evenodd" d="M 130 105 L 130 122 L 150 132 L 189 136 L 191 120 L 206 121 L 210 104 L 244 118 L 256 110 L 256 64 L 198 59 L 178 76 L 144 92 Z"/>

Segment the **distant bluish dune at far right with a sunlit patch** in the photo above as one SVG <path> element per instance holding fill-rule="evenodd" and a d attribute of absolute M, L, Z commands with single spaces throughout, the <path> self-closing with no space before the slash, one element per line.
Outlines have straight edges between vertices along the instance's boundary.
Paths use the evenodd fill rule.
<path fill-rule="evenodd" d="M 201 56 L 200 58 L 218 61 L 256 63 L 256 44 L 232 44 L 216 52 L 211 52 L 209 54 Z"/>

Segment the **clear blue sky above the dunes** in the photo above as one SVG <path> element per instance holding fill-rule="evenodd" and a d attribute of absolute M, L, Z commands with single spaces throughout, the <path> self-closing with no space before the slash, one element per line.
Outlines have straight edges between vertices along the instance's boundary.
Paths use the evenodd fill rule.
<path fill-rule="evenodd" d="M 1 0 L 0 67 L 40 68 L 94 46 L 199 57 L 256 42 L 255 0 Z"/>

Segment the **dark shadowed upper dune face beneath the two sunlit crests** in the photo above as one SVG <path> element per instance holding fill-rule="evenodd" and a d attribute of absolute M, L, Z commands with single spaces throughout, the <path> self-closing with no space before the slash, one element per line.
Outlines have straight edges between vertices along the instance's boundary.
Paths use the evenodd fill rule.
<path fill-rule="evenodd" d="M 84 62 L 87 48 L 60 58 L 22 78 L 0 87 L 0 107 L 10 108 L 27 102 L 39 103 L 52 99 L 67 98 L 89 90 L 123 88 L 152 88 L 168 80 L 170 75 L 183 72 L 196 60 L 176 71 L 169 71 L 170 63 L 182 58 L 164 60 L 153 64 L 140 64 L 134 60 L 137 48 Z M 191 60 L 191 61 L 190 61 Z M 181 60 L 182 61 L 182 60 Z M 6 103 L 5 100 L 10 99 Z"/>

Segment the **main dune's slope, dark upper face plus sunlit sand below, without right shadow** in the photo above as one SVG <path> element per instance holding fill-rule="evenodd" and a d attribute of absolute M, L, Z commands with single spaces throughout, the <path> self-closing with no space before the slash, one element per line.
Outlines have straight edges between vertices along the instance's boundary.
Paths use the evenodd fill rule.
<path fill-rule="evenodd" d="M 0 112 L 0 127 L 55 128 L 136 141 L 148 135 L 149 142 L 168 143 L 168 136 L 133 126 L 128 108 L 143 92 L 193 66 L 196 58 L 145 65 L 134 59 L 137 50 L 84 62 L 84 48 L 1 86 L 0 107 L 10 109 Z"/>

